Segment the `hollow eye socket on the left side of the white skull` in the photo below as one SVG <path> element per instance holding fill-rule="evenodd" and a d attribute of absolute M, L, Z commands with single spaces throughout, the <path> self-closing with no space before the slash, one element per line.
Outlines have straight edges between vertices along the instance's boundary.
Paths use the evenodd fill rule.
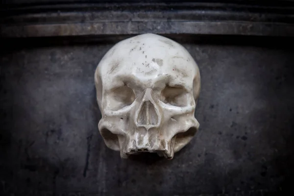
<path fill-rule="evenodd" d="M 125 106 L 131 105 L 135 100 L 135 94 L 131 88 L 124 85 L 112 89 L 107 98 L 107 105 L 112 110 L 119 110 Z"/>

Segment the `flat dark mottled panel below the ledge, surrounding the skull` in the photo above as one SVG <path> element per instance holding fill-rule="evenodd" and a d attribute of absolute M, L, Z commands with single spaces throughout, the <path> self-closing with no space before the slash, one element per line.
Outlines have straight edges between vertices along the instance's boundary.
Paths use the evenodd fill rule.
<path fill-rule="evenodd" d="M 265 196 L 291 189 L 293 42 L 173 36 L 199 65 L 200 130 L 172 161 L 149 154 L 124 160 L 98 133 L 94 86 L 99 60 L 123 38 L 4 43 L 1 196 Z"/>

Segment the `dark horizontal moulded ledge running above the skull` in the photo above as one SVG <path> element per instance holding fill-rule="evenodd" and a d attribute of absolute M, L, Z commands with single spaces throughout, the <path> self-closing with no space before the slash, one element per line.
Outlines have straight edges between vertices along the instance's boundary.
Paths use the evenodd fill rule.
<path fill-rule="evenodd" d="M 0 37 L 288 36 L 294 0 L 1 0 Z"/>

